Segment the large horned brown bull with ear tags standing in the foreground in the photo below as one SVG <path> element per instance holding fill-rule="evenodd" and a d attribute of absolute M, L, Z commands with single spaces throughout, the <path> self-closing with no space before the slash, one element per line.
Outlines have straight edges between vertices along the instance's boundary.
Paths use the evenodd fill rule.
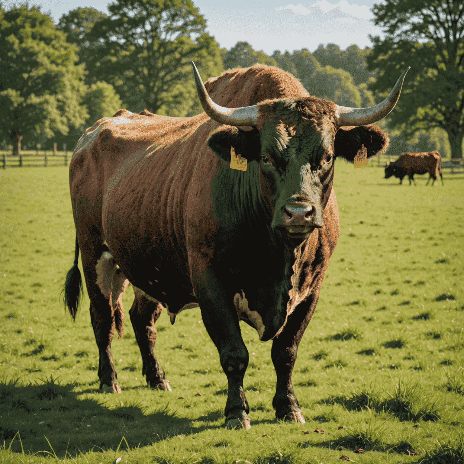
<path fill-rule="evenodd" d="M 174 323 L 199 304 L 228 379 L 227 427 L 250 426 L 244 320 L 260 340 L 273 340 L 277 418 L 303 423 L 291 374 L 339 234 L 335 158 L 353 162 L 361 148 L 370 157 L 387 147 L 388 136 L 371 123 L 393 109 L 406 71 L 384 102 L 361 109 L 310 97 L 274 67 L 226 71 L 206 88 L 194 72 L 206 114 L 119 110 L 78 142 L 70 163 L 77 239 L 65 302 L 74 317 L 80 248 L 100 388 L 114 392 L 121 389 L 111 340 L 115 328 L 122 332 L 126 285 L 138 288 L 130 319 L 151 387 L 168 388 L 153 351 L 161 310 Z M 232 148 L 246 170 L 230 168 Z"/>

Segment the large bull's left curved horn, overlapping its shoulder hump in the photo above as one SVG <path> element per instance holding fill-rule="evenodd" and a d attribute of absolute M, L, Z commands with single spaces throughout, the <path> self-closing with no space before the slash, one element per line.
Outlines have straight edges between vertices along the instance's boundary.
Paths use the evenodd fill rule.
<path fill-rule="evenodd" d="M 192 61 L 193 76 L 197 87 L 200 103 L 206 114 L 214 121 L 230 126 L 254 126 L 258 117 L 258 105 L 243 106 L 242 108 L 224 108 L 213 102 L 203 85 L 200 73 Z"/>

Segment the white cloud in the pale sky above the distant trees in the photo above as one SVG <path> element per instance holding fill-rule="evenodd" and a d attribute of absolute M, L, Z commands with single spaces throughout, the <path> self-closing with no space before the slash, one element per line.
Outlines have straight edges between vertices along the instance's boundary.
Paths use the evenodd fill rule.
<path fill-rule="evenodd" d="M 328 16 L 337 21 L 354 22 L 355 19 L 371 19 L 374 15 L 369 11 L 367 5 L 357 5 L 353 3 L 350 5 L 346 0 L 341 0 L 338 3 L 332 4 L 327 0 L 317 0 L 309 7 L 303 6 L 301 3 L 298 5 L 280 6 L 277 11 L 290 14 L 315 14 L 317 16 Z"/>

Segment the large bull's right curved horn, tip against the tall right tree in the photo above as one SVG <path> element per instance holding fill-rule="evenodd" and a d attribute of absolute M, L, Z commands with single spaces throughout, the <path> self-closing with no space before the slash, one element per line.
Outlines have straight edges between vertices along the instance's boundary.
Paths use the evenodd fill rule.
<path fill-rule="evenodd" d="M 395 107 L 398 98 L 400 98 L 401 87 L 406 72 L 410 69 L 411 66 L 403 71 L 403 74 L 396 81 L 388 97 L 378 105 L 370 106 L 369 108 L 349 108 L 348 106 L 337 105 L 339 126 L 363 126 L 364 124 L 372 124 L 373 122 L 380 121 L 380 119 L 387 116 Z"/>

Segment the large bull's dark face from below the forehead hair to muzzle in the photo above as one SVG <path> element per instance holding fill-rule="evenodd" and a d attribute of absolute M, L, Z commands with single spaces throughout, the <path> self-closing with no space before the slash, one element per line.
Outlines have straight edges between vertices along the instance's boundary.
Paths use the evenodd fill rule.
<path fill-rule="evenodd" d="M 259 186 L 271 210 L 273 229 L 305 238 L 322 227 L 334 176 L 332 133 L 321 134 L 310 121 L 289 126 L 271 120 L 260 130 Z"/>

